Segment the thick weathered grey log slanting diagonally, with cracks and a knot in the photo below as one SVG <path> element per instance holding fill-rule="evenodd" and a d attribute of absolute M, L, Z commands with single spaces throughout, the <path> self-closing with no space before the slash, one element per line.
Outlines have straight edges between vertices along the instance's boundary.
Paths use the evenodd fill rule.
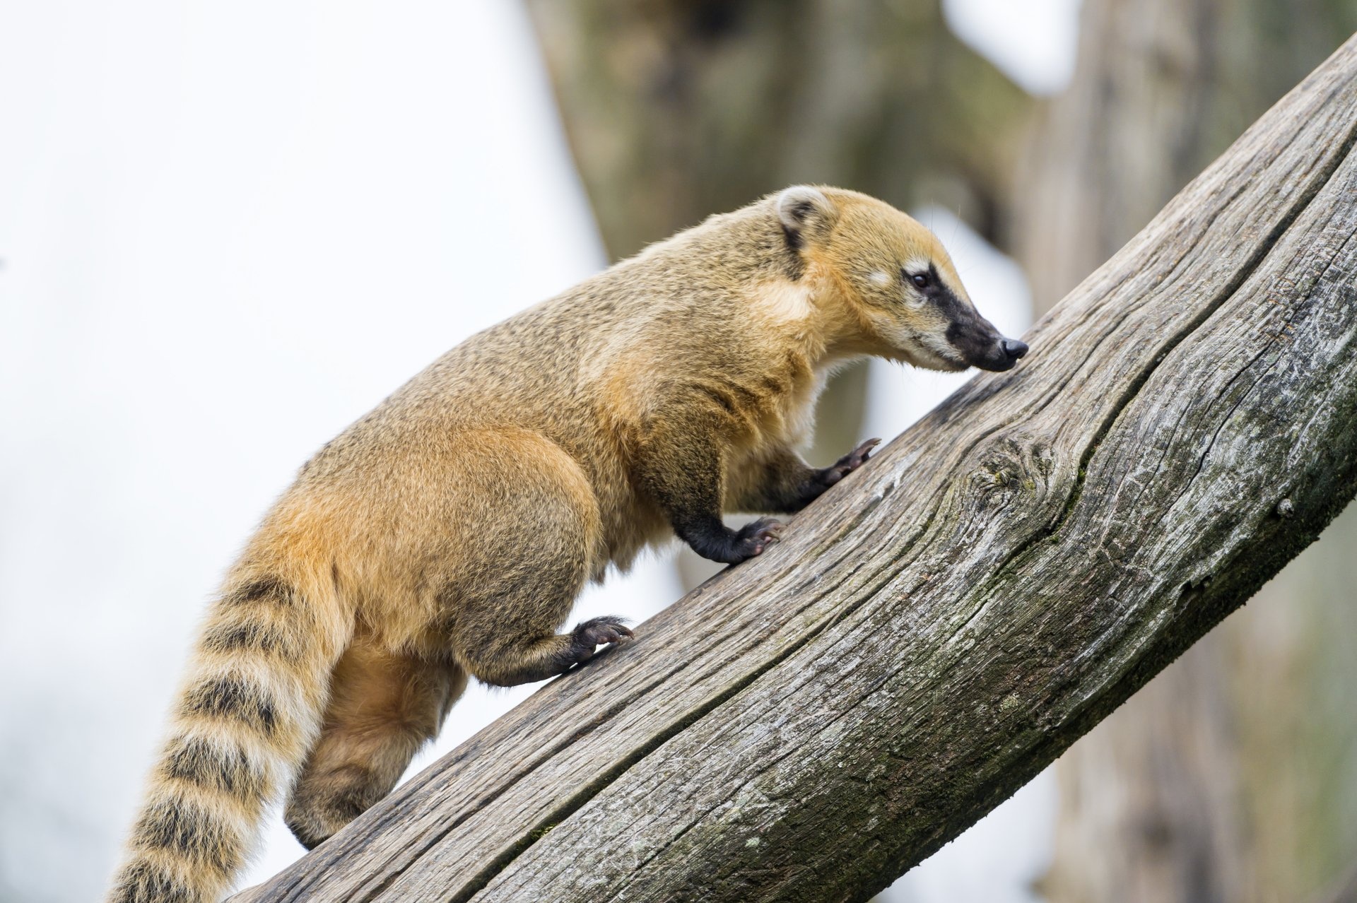
<path fill-rule="evenodd" d="M 1038 323 L 1022 366 L 236 899 L 889 884 L 1357 491 L 1354 140 L 1357 39 Z"/>

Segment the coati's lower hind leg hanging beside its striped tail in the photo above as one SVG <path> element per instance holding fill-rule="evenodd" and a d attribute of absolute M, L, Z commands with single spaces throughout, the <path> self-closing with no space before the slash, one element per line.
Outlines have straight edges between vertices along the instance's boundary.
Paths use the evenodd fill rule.
<path fill-rule="evenodd" d="M 451 663 L 392 655 L 360 637 L 339 659 L 320 739 L 285 820 L 307 849 L 384 797 L 467 686 Z"/>

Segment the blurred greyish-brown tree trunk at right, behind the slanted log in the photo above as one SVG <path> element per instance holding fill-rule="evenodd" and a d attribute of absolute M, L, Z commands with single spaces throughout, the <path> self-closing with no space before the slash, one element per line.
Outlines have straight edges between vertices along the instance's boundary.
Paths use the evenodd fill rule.
<path fill-rule="evenodd" d="M 1038 310 L 1354 27 L 1352 0 L 1087 0 L 1073 84 L 1022 167 L 1014 244 Z M 1349 511 L 1061 758 L 1052 903 L 1337 889 L 1357 857 L 1354 544 Z"/>

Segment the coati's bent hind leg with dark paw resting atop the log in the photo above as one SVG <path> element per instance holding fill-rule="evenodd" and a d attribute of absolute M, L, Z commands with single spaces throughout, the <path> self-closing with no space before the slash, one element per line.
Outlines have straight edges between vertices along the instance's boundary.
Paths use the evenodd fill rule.
<path fill-rule="evenodd" d="M 483 442 L 494 456 L 480 454 Z M 493 518 L 460 536 L 448 587 L 453 654 L 478 679 L 514 686 L 562 674 L 604 643 L 630 637 L 620 618 L 556 628 L 594 568 L 601 522 L 593 488 L 559 446 L 528 431 L 478 435 L 471 510 Z"/>

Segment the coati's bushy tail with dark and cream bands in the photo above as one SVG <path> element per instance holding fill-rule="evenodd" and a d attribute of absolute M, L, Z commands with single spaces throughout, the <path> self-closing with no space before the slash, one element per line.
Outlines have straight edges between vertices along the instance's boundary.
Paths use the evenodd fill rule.
<path fill-rule="evenodd" d="M 231 887 L 319 732 L 351 629 L 332 590 L 307 590 L 251 575 L 214 605 L 110 903 L 206 903 Z"/>

